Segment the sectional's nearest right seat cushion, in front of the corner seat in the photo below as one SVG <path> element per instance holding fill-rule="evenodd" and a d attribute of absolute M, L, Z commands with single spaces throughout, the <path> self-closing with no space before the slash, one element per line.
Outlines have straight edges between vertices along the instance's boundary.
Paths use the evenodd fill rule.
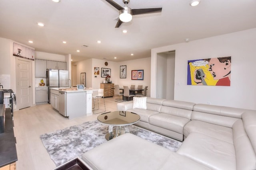
<path fill-rule="evenodd" d="M 190 133 L 177 153 L 212 170 L 236 169 L 234 145 L 202 133 Z"/>

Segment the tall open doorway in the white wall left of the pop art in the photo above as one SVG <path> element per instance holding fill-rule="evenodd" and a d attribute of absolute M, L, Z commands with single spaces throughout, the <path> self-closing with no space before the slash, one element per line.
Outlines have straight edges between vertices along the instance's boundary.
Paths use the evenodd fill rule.
<path fill-rule="evenodd" d="M 174 100 L 175 51 L 157 54 L 156 98 Z"/>

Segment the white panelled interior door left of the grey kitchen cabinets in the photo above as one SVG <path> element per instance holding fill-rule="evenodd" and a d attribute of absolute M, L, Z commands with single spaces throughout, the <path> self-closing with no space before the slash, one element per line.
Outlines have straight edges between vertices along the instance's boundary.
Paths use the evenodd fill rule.
<path fill-rule="evenodd" d="M 18 109 L 31 106 L 31 61 L 16 57 L 16 98 Z"/>

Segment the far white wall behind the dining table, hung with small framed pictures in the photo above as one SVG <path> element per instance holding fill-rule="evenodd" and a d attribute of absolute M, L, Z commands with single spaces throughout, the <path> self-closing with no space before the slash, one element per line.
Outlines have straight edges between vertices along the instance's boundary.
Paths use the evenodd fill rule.
<path fill-rule="evenodd" d="M 72 63 L 72 65 L 76 65 L 77 82 L 80 82 L 80 73 L 86 72 L 86 86 L 98 89 L 100 83 L 105 80 L 104 77 L 101 77 L 101 68 L 110 68 L 112 83 L 118 84 L 120 87 L 131 84 L 136 85 L 136 87 L 138 85 L 148 86 L 147 96 L 150 96 L 150 57 L 123 62 L 107 61 L 108 66 L 105 66 L 105 62 L 105 60 L 88 59 Z M 126 78 L 120 78 L 120 66 L 122 65 L 126 65 Z M 96 78 L 94 77 L 94 67 L 100 68 L 100 75 L 97 75 Z M 144 80 L 131 80 L 132 70 L 144 70 Z"/>

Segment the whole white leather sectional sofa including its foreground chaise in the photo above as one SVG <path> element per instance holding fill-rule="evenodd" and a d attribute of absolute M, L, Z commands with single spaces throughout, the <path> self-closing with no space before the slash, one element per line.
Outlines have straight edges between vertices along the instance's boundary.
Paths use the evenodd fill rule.
<path fill-rule="evenodd" d="M 140 115 L 139 126 L 183 141 L 177 152 L 132 134 L 112 139 L 82 155 L 92 169 L 255 170 L 256 111 L 146 99 L 146 109 L 133 101 L 117 104 L 120 111 Z"/>

